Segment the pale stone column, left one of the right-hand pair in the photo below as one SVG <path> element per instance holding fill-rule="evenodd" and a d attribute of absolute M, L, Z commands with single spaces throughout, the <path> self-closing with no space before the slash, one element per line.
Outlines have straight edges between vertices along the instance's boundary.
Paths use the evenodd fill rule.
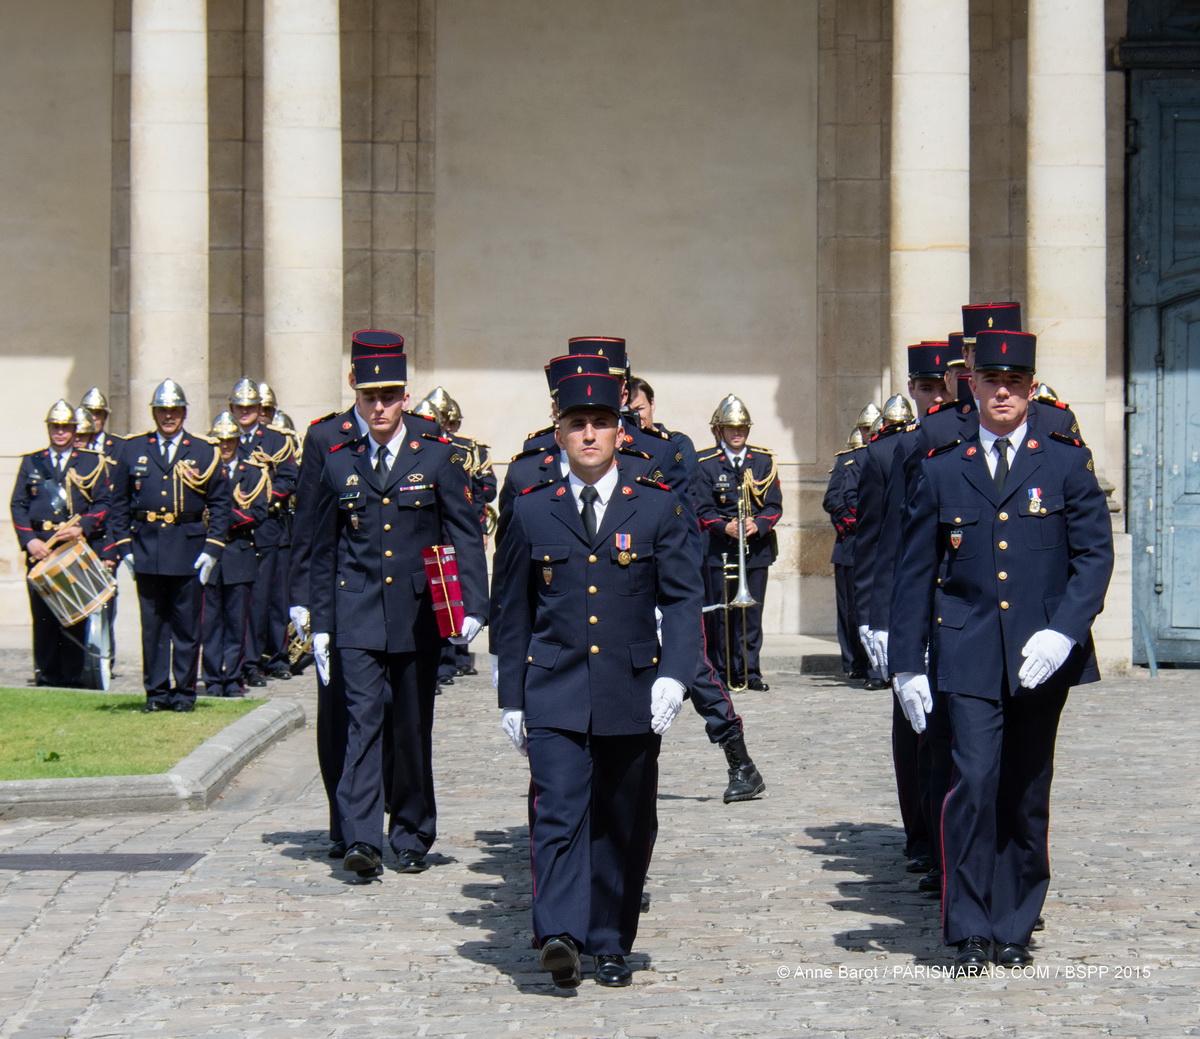
<path fill-rule="evenodd" d="M 959 328 L 971 290 L 966 0 L 895 0 L 892 42 L 890 384 L 907 347 Z"/>

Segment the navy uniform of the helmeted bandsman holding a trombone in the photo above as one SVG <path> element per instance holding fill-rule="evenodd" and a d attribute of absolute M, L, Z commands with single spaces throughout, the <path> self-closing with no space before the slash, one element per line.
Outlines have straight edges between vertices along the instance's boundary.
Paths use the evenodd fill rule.
<path fill-rule="evenodd" d="M 744 464 L 756 480 L 766 480 L 774 469 L 774 460 L 764 448 L 750 444 L 745 448 Z M 691 481 L 691 493 L 696 502 L 696 516 L 706 534 L 704 545 L 704 587 L 709 602 L 722 602 L 725 599 L 725 571 L 721 561 L 724 553 L 730 563 L 738 560 L 738 539 L 725 533 L 725 524 L 736 520 L 738 502 L 742 497 L 743 470 L 736 468 L 725 454 L 724 448 L 701 454 L 696 463 L 696 473 Z M 763 491 L 762 504 L 751 504 L 750 518 L 758 525 L 758 531 L 746 537 L 746 582 L 750 594 L 757 605 L 738 612 L 745 624 L 746 649 L 742 655 L 742 639 L 733 637 L 738 625 L 730 627 L 730 648 L 733 659 L 733 674 L 750 679 L 762 679 L 758 654 L 762 649 L 762 603 L 767 595 L 767 567 L 775 561 L 779 548 L 775 540 L 775 524 L 782 515 L 782 492 L 779 479 L 770 481 Z M 732 593 L 730 595 L 732 599 Z M 725 623 L 730 611 L 712 611 L 706 615 L 708 630 L 709 656 L 722 674 L 726 673 L 726 637 Z"/>

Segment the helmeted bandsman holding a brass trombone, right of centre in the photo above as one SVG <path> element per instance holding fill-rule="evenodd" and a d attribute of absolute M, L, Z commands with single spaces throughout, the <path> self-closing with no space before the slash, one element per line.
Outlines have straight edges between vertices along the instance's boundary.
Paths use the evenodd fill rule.
<path fill-rule="evenodd" d="M 696 515 L 707 536 L 704 587 L 709 603 L 733 597 L 732 594 L 726 596 L 725 563 L 738 563 L 742 539 L 746 583 L 755 602 L 737 611 L 708 612 L 709 654 L 715 655 L 719 672 L 733 675 L 731 684 L 734 687 L 740 685 L 766 692 L 769 686 L 762 680 L 758 661 L 762 649 L 762 603 L 767 595 L 767 569 L 779 554 L 775 524 L 782 515 L 782 492 L 770 451 L 746 443 L 751 426 L 750 412 L 738 397 L 730 394 L 716 406 L 712 425 L 718 446 L 701 454 L 691 481 Z M 745 503 L 749 510 L 745 530 L 739 534 L 739 503 L 748 488 L 751 500 Z M 740 614 L 736 624 L 731 615 L 734 612 Z"/>

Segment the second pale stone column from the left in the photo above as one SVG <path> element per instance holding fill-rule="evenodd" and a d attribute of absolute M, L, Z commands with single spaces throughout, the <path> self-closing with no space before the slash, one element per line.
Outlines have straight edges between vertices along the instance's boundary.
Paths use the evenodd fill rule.
<path fill-rule="evenodd" d="M 342 89 L 337 0 L 264 0 L 266 382 L 296 422 L 341 403 Z"/>

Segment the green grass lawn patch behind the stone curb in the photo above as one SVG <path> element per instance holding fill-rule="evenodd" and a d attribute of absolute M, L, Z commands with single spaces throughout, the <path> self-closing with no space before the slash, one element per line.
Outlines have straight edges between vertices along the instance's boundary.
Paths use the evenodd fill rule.
<path fill-rule="evenodd" d="M 0 780 L 167 771 L 262 703 L 202 697 L 191 714 L 142 714 L 143 696 L 0 689 Z"/>

